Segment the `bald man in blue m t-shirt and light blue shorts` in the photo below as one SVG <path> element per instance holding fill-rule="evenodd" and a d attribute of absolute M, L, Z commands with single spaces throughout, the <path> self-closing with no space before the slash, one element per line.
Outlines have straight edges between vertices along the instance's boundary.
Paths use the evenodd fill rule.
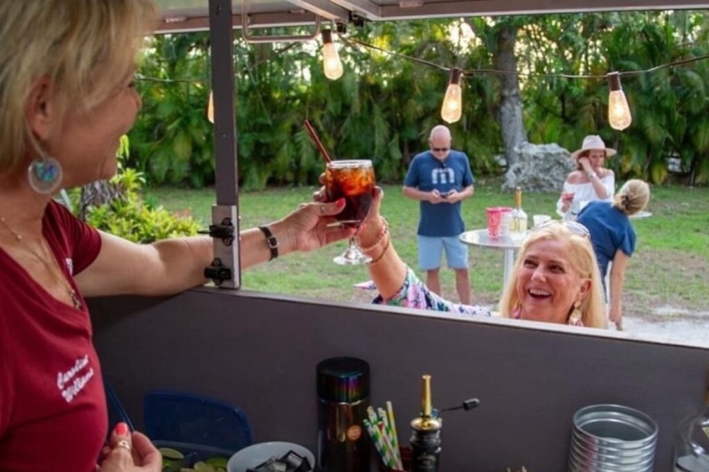
<path fill-rule="evenodd" d="M 419 200 L 418 265 L 426 271 L 426 284 L 441 293 L 440 260 L 445 249 L 448 267 L 455 270 L 455 288 L 462 304 L 470 304 L 468 248 L 460 240 L 465 225 L 460 202 L 473 195 L 475 178 L 468 156 L 450 149 L 450 129 L 431 129 L 429 151 L 414 156 L 403 195 Z"/>

